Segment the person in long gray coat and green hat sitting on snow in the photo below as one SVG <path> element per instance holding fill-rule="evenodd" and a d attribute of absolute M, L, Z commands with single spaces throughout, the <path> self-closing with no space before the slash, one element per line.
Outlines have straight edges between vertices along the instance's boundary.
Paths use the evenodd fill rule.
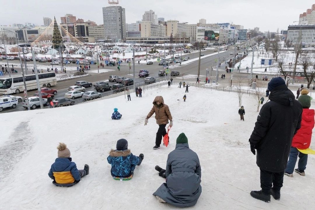
<path fill-rule="evenodd" d="M 189 149 L 185 133 L 176 139 L 175 150 L 169 153 L 166 170 L 156 166 L 159 176 L 166 178 L 153 193 L 159 202 L 176 207 L 194 206 L 201 194 L 201 167 L 196 152 Z"/>

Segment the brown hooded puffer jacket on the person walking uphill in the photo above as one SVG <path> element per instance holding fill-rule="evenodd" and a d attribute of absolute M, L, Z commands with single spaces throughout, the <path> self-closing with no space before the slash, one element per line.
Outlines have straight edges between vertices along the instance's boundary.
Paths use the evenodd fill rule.
<path fill-rule="evenodd" d="M 157 101 L 162 103 L 160 108 L 157 107 Z M 154 113 L 158 125 L 168 124 L 169 120 L 173 120 L 171 112 L 169 111 L 169 106 L 164 104 L 164 99 L 162 96 L 155 97 L 153 101 L 153 107 L 146 118 L 149 119 Z"/>

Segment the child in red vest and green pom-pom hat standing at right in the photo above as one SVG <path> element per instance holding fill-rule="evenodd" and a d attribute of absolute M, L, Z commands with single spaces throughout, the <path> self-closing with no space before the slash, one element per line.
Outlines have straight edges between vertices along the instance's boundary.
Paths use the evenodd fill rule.
<path fill-rule="evenodd" d="M 289 177 L 293 177 L 293 170 L 296 173 L 305 176 L 304 170 L 306 169 L 307 164 L 307 154 L 301 153 L 297 148 L 304 150 L 310 146 L 312 139 L 312 129 L 314 128 L 315 123 L 315 111 L 313 109 L 309 109 L 311 106 L 311 97 L 307 95 L 308 90 L 302 89 L 300 93 L 301 96 L 298 98 L 298 101 L 300 101 L 303 107 L 301 128 L 297 131 L 292 139 L 289 161 L 284 171 L 284 174 Z M 298 168 L 294 169 L 298 156 Z"/>

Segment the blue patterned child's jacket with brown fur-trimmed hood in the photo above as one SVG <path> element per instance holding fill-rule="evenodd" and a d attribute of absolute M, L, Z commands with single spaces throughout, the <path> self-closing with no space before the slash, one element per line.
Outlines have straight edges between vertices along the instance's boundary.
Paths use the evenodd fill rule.
<path fill-rule="evenodd" d="M 115 177 L 129 177 L 133 174 L 133 168 L 140 165 L 142 160 L 130 150 L 111 150 L 107 162 L 112 165 L 111 174 Z"/>

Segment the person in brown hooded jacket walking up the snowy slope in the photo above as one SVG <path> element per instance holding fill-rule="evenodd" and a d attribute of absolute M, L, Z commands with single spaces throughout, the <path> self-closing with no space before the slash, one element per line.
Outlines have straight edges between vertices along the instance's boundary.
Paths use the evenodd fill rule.
<path fill-rule="evenodd" d="M 173 126 L 173 118 L 171 115 L 171 112 L 169 111 L 169 106 L 164 104 L 164 100 L 162 96 L 155 97 L 153 101 L 153 107 L 149 114 L 146 116 L 146 119 L 144 121 L 144 125 L 148 123 L 148 119 L 155 113 L 155 119 L 157 121 L 157 124 L 159 125 L 159 128 L 157 130 L 157 135 L 155 138 L 155 146 L 153 149 L 157 150 L 160 148 L 162 136 L 166 134 L 166 124 L 169 123 L 170 127 Z M 169 122 L 170 120 L 170 122 Z"/>

